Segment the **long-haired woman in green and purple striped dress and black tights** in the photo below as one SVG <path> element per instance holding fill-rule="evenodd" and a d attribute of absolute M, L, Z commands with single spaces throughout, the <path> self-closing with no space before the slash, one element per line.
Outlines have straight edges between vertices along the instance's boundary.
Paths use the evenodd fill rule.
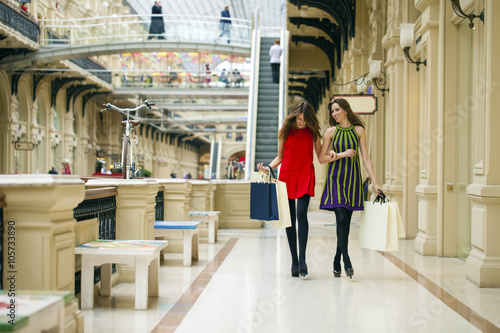
<path fill-rule="evenodd" d="M 352 212 L 363 210 L 363 184 L 359 154 L 370 176 L 373 187 L 383 193 L 373 172 L 372 161 L 366 147 L 363 121 L 352 112 L 349 102 L 336 98 L 328 104 L 328 128 L 323 136 L 319 161 L 329 163 L 320 209 L 333 210 L 337 223 L 337 253 L 333 260 L 333 275 L 340 277 L 340 259 L 344 259 L 346 275 L 352 278 L 352 268 L 347 251 Z M 333 161 L 329 159 L 333 157 Z"/>

